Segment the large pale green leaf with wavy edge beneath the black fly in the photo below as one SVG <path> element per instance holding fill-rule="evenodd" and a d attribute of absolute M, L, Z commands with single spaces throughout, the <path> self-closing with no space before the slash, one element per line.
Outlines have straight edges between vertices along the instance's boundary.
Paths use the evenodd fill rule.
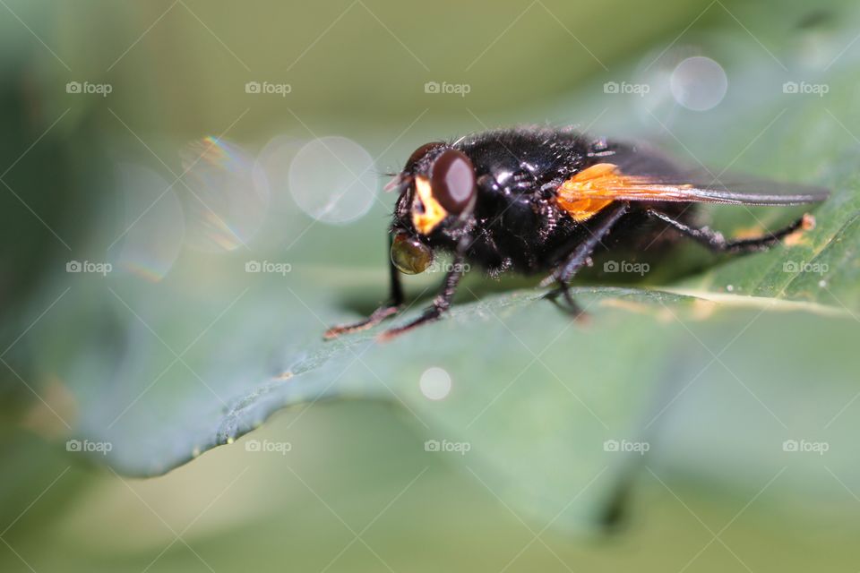
<path fill-rule="evenodd" d="M 731 21 L 726 26 L 714 31 L 725 45 L 754 44 Z M 792 47 L 773 49 L 796 70 Z M 588 307 L 587 325 L 538 290 L 490 295 L 473 280 L 445 320 L 391 344 L 377 344 L 375 332 L 325 343 L 327 326 L 383 298 L 385 253 L 382 220 L 347 230 L 318 225 L 289 252 L 293 269 L 284 277 L 246 274 L 245 261 L 257 257 L 245 252 L 186 258 L 155 285 L 58 275 L 41 301 L 73 288 L 33 328 L 30 352 L 51 349 L 40 356 L 42 373 L 71 389 L 74 436 L 109 444 L 107 462 L 133 475 L 167 472 L 233 442 L 281 408 L 293 406 L 300 416 L 306 405 L 335 398 L 390 401 L 427 440 L 440 443 L 443 451 L 433 451 L 431 442 L 427 456 L 467 466 L 518 512 L 570 528 L 604 517 L 627 470 L 650 459 L 640 456 L 642 449 L 657 463 L 690 471 L 695 459 L 697 471 L 753 487 L 789 462 L 821 469 L 818 460 L 787 458 L 779 448 L 814 430 L 845 446 L 843 457 L 828 461 L 839 473 L 849 463 L 845 436 L 856 433 L 850 416 L 836 415 L 855 391 L 844 372 L 856 369 L 843 369 L 856 363 L 849 341 L 860 312 L 860 178 L 857 141 L 846 127 L 856 123 L 849 121 L 856 118 L 849 89 L 858 79 L 856 59 L 846 56 L 818 79 L 830 85 L 825 101 L 781 93 L 790 74 L 762 64 L 770 56 L 758 47 L 723 56 L 733 81 L 724 104 L 660 124 L 682 155 L 687 146 L 677 142 L 699 141 L 686 150 L 693 160 L 828 185 L 833 196 L 816 210 L 818 226 L 796 244 L 713 261 L 709 270 L 659 288 L 582 287 L 576 296 Z M 761 69 L 769 72 L 751 73 Z M 595 93 L 604 80 L 584 92 Z M 753 93 L 769 95 L 751 105 Z M 605 98 L 599 101 L 583 101 L 580 109 Z M 627 111 L 610 114 L 613 121 L 633 123 L 630 100 L 618 105 Z M 787 213 L 713 216 L 729 234 L 761 222 L 775 226 Z M 374 257 L 378 264 L 349 265 L 339 245 L 373 253 L 362 261 Z M 416 316 L 421 304 L 396 321 Z M 831 346 L 822 342 L 834 336 Z M 804 348 L 830 355 L 811 369 Z M 419 386 L 431 367 L 452 380 L 451 394 L 440 401 Z M 815 376 L 825 396 L 810 412 Z M 731 398 L 720 393 L 726 383 L 738 392 Z M 787 388 L 795 392 L 791 398 L 780 393 Z M 722 440 L 701 432 L 702 423 L 721 423 L 735 411 L 749 415 L 718 432 Z M 799 423 L 804 413 L 815 423 Z M 767 436 L 763 449 L 744 443 L 753 432 Z"/>

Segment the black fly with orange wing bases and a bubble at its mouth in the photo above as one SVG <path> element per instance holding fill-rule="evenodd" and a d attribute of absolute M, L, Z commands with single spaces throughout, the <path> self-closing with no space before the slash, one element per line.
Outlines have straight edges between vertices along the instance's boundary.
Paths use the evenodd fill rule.
<path fill-rule="evenodd" d="M 766 250 L 813 227 L 813 218 L 804 215 L 777 231 L 727 240 L 693 225 L 692 203 L 798 205 L 823 201 L 828 194 L 800 185 L 719 182 L 647 147 L 548 127 L 427 143 L 387 189 L 400 193 L 391 223 L 389 300 L 363 321 L 329 329 L 326 338 L 370 328 L 399 312 L 400 273 L 424 271 L 436 252 L 451 252 L 453 264 L 433 304 L 414 321 L 385 331 L 382 339 L 447 311 L 464 263 L 491 276 L 509 269 L 547 273 L 543 284 L 555 285 L 551 295 L 562 295 L 578 313 L 571 279 L 593 252 L 619 238 L 668 227 L 711 251 L 741 253 Z"/>

